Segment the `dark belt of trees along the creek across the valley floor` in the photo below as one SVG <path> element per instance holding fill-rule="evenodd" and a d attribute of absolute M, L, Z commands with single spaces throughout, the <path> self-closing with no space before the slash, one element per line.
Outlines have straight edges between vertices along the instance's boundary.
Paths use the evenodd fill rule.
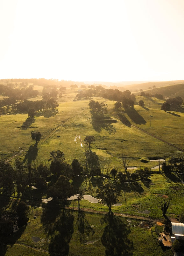
<path fill-rule="evenodd" d="M 53 200 L 60 200 L 63 205 L 67 204 L 68 197 L 76 195 L 80 211 L 80 200 L 86 191 L 86 188 L 82 187 L 84 177 L 86 175 L 88 178 L 100 176 L 96 194 L 98 198 L 102 199 L 103 203 L 107 204 L 109 213 L 112 214 L 111 207 L 118 201 L 122 189 L 121 185 L 125 183 L 134 184 L 138 180 L 149 181 L 151 172 L 148 168 L 140 168 L 132 173 L 128 172 L 127 166 L 129 162 L 123 161 L 123 157 L 127 159 L 126 156 L 123 155 L 122 165 L 124 166 L 125 172 L 118 171 L 116 168 L 110 168 L 109 166 L 105 175 L 103 173 L 104 170 L 101 172 L 98 156 L 95 152 L 92 152 L 90 148 L 91 143 L 94 141 L 94 136 L 86 136 L 85 138 L 85 143 L 89 147 L 89 149 L 86 149 L 85 151 L 86 170 L 83 169 L 78 159 L 74 158 L 71 164 L 67 163 L 65 161 L 64 153 L 60 150 L 50 152 L 50 158 L 48 159 L 50 161 L 50 166 L 43 164 L 39 164 L 37 167 L 32 165 L 26 166 L 19 158 L 17 158 L 15 160 L 15 166 L 12 167 L 10 163 L 5 163 L 1 160 L 1 191 L 6 195 L 11 195 L 13 191 L 15 193 L 16 187 L 16 190 L 20 195 L 20 193 L 24 193 L 26 189 L 35 186 L 38 189 L 46 189 L 48 196 L 52 196 Z M 171 157 L 170 162 L 174 162 L 174 164 L 179 166 L 181 162 L 183 164 L 183 159 L 183 157 Z M 88 168 L 90 169 L 89 173 Z M 165 170 L 164 168 L 165 167 L 163 167 L 163 170 Z M 104 180 L 104 176 L 107 178 L 106 180 Z M 46 181 L 50 182 L 48 183 Z M 166 216 L 169 203 L 169 200 L 160 202 L 163 216 Z"/>

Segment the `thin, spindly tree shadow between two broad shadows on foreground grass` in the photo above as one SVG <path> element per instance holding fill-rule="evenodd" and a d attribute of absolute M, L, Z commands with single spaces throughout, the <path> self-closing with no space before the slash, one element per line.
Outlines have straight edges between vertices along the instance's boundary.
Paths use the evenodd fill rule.
<path fill-rule="evenodd" d="M 78 229 L 79 240 L 81 243 L 85 243 L 86 237 L 88 237 L 90 234 L 95 234 L 94 229 L 90 226 L 88 220 L 85 219 L 85 213 L 83 211 L 78 212 L 75 227 Z"/>

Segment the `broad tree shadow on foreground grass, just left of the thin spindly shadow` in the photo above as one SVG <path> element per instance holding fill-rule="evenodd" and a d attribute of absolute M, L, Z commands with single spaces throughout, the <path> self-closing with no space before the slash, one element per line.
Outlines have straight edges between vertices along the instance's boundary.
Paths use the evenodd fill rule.
<path fill-rule="evenodd" d="M 64 208 L 55 222 L 54 231 L 48 249 L 50 255 L 68 255 L 69 242 L 74 233 L 74 215 Z"/>

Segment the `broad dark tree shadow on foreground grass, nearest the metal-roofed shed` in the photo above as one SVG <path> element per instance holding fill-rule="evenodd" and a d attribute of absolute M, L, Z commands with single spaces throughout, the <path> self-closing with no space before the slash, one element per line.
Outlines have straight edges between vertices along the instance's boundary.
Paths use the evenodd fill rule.
<path fill-rule="evenodd" d="M 119 216 L 106 214 L 101 223 L 107 223 L 102 235 L 102 244 L 105 246 L 106 256 L 131 256 L 133 255 L 133 242 L 128 238 L 130 229 Z"/>

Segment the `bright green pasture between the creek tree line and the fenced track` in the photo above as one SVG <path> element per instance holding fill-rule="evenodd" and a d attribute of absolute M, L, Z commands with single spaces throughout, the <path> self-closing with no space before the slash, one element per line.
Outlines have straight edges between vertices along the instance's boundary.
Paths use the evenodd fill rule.
<path fill-rule="evenodd" d="M 113 212 L 122 214 L 130 214 L 136 216 L 145 216 L 150 218 L 159 218 L 163 220 L 160 202 L 163 201 L 162 196 L 171 199 L 167 215 L 176 217 L 183 208 L 184 185 L 181 183 L 183 176 L 175 174 L 152 174 L 149 184 L 141 181 L 132 184 L 122 185 L 122 194 L 118 198 L 121 206 L 112 206 Z M 87 193 L 96 197 L 96 189 L 99 180 L 97 177 L 91 179 L 87 183 Z M 84 185 L 86 180 L 84 181 Z M 90 203 L 88 200 L 81 200 L 81 208 L 89 208 L 100 212 L 108 212 L 108 207 L 101 203 Z M 70 206 L 77 207 L 77 200 L 72 200 Z M 144 211 L 149 211 L 145 214 Z"/>

